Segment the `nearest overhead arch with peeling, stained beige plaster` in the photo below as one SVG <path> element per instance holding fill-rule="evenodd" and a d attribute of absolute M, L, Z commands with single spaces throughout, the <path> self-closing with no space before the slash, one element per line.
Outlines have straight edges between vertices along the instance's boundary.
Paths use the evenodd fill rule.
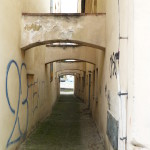
<path fill-rule="evenodd" d="M 87 32 L 88 31 L 88 32 Z M 100 38 L 97 38 L 100 36 Z M 105 14 L 22 16 L 21 48 L 27 50 L 42 44 L 60 41 L 80 42 L 80 45 L 105 48 Z M 77 41 L 77 42 L 76 42 Z M 77 43 L 78 44 L 78 43 Z M 92 46 L 91 46 L 92 45 Z"/>

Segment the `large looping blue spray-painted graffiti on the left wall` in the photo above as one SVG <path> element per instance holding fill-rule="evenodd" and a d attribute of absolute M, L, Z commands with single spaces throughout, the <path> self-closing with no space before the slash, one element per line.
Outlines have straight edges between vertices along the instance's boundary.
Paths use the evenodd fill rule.
<path fill-rule="evenodd" d="M 14 65 L 17 69 L 17 74 L 18 74 L 18 80 L 19 80 L 19 91 L 18 91 L 18 104 L 17 104 L 17 110 L 15 110 L 11 103 L 10 103 L 10 99 L 9 99 L 9 92 L 8 92 L 8 75 L 9 75 L 9 70 L 11 68 L 11 66 Z M 26 133 L 27 133 L 27 128 L 28 128 L 28 82 L 27 82 L 27 94 L 26 94 L 26 97 L 24 99 L 21 100 L 21 95 L 22 95 L 22 83 L 21 83 L 21 73 L 22 73 L 22 70 L 26 69 L 26 65 L 25 63 L 22 63 L 21 65 L 21 69 L 20 69 L 20 72 L 19 72 L 19 67 L 18 67 L 18 64 L 16 63 L 15 60 L 11 60 L 8 65 L 7 65 L 7 71 L 6 71 L 6 98 L 7 98 L 7 102 L 8 102 L 8 106 L 10 108 L 10 111 L 12 112 L 13 115 L 16 115 L 15 117 L 15 122 L 14 122 L 14 125 L 13 125 L 13 129 L 11 131 L 11 134 L 10 134 L 10 137 L 7 141 L 7 147 L 9 147 L 10 145 L 18 142 L 21 138 L 24 138 L 26 136 Z M 21 104 L 24 106 L 26 105 L 27 106 L 27 120 L 26 120 L 26 128 L 25 128 L 25 131 L 22 132 L 21 131 L 21 128 L 20 128 L 20 121 L 19 121 L 19 107 L 20 107 L 20 101 L 21 101 Z M 19 133 L 20 135 L 18 135 L 18 137 L 14 140 L 12 140 L 12 136 L 13 136 L 13 133 L 15 131 L 15 127 L 18 123 L 18 129 L 19 129 Z"/>

